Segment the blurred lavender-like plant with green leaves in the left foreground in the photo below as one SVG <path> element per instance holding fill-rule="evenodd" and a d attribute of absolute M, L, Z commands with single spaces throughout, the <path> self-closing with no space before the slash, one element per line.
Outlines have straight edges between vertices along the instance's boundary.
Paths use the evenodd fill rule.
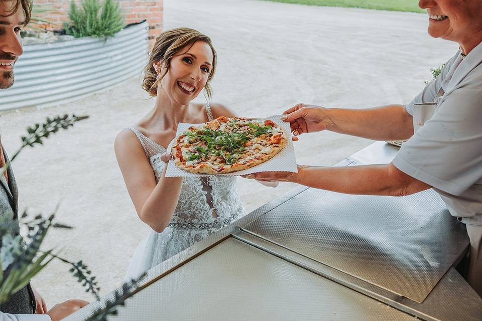
<path fill-rule="evenodd" d="M 49 137 L 52 133 L 56 133 L 60 129 L 67 129 L 76 121 L 86 118 L 88 116 L 63 115 L 47 118 L 42 124 L 28 127 L 28 135 L 22 137 L 22 146 L 14 154 L 12 160 L 23 148 L 42 144 L 43 139 Z M 9 165 L 10 162 L 0 169 L 0 174 L 3 175 L 3 171 Z M 38 214 L 33 219 L 29 219 L 29 215 L 24 211 L 19 222 L 14 219 L 14 213 L 11 211 L 0 215 L 0 303 L 7 301 L 13 294 L 26 286 L 30 279 L 42 271 L 53 259 L 69 264 L 71 266 L 70 273 L 86 288 L 85 291 L 91 292 L 97 300 L 100 300 L 100 287 L 96 278 L 92 276 L 92 272 L 82 260 L 71 262 L 52 253 L 53 250 L 42 251 L 40 249 L 50 228 L 72 228 L 67 224 L 54 221 L 57 210 L 58 206 L 48 218 Z M 26 240 L 18 231 L 18 223 L 27 227 Z M 104 306 L 97 309 L 88 320 L 106 321 L 108 316 L 116 315 L 117 307 L 124 306 L 125 300 L 137 293 L 139 282 L 144 276 L 145 274 L 125 283 L 121 289 L 116 290 L 114 298 L 107 300 Z"/>

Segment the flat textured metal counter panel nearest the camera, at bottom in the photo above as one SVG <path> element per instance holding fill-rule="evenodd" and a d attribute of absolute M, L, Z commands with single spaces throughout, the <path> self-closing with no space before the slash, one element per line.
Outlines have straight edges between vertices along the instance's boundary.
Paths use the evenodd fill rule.
<path fill-rule="evenodd" d="M 143 289 L 110 321 L 416 320 L 228 238 Z"/>

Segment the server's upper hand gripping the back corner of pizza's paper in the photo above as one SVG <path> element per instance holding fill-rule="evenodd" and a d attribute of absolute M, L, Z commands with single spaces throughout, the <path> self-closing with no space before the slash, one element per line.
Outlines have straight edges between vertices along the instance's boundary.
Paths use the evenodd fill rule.
<path fill-rule="evenodd" d="M 329 121 L 324 107 L 305 104 L 298 104 L 286 110 L 282 119 L 290 123 L 291 131 L 295 136 L 325 130 Z"/>

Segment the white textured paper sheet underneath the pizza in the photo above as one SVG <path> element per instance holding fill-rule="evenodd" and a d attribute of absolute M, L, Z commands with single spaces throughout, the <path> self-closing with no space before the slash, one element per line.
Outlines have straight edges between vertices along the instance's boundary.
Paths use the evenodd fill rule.
<path fill-rule="evenodd" d="M 296 156 L 295 156 L 295 148 L 293 147 L 293 140 L 291 139 L 291 128 L 290 123 L 284 122 L 281 120 L 281 115 L 273 115 L 266 118 L 254 118 L 255 120 L 266 120 L 271 119 L 274 121 L 278 126 L 280 126 L 283 131 L 285 132 L 286 137 L 288 138 L 288 143 L 286 144 L 283 149 L 281 149 L 273 158 L 269 159 L 268 161 L 261 163 L 255 167 L 232 172 L 232 173 L 225 173 L 225 174 L 194 174 L 184 170 L 181 170 L 174 164 L 173 159 L 171 159 L 167 165 L 166 170 L 166 177 L 188 177 L 188 176 L 239 176 L 239 175 L 248 175 L 253 173 L 259 172 L 294 172 L 298 173 L 298 167 L 296 165 Z M 171 141 L 169 146 L 167 146 L 167 151 L 171 151 L 172 144 L 176 141 L 177 137 L 187 131 L 187 129 L 191 126 L 198 126 L 199 124 L 187 124 L 187 123 L 179 123 L 177 126 L 176 138 Z"/>

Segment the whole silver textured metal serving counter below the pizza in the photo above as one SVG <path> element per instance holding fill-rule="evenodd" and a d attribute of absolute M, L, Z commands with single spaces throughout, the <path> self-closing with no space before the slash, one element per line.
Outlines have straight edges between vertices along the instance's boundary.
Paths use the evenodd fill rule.
<path fill-rule="evenodd" d="M 338 166 L 389 163 L 396 152 L 378 142 Z M 452 267 L 467 245 L 433 191 L 298 187 L 151 269 L 109 319 L 480 320 L 482 298 Z"/>

